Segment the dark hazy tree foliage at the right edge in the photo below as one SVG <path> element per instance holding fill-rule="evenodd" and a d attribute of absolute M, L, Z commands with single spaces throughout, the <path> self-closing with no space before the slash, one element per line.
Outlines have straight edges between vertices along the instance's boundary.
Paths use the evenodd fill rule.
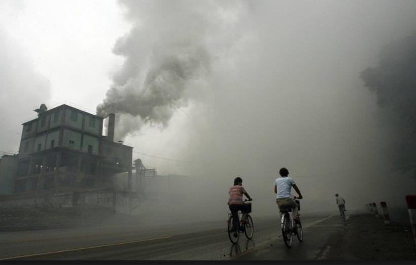
<path fill-rule="evenodd" d="M 416 170 L 416 33 L 388 44 L 378 64 L 361 73 L 365 86 L 377 95 L 384 119 L 395 127 L 392 135 L 395 168 Z M 416 177 L 416 175 L 414 175 Z"/>

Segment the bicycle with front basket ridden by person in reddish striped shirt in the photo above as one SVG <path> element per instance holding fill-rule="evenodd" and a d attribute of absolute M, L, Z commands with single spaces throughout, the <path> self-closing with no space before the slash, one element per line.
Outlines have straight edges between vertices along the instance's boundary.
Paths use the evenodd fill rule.
<path fill-rule="evenodd" d="M 243 203 L 247 201 L 249 200 L 246 199 L 244 200 Z M 249 213 L 250 212 L 251 212 L 251 207 L 250 207 Z M 247 213 L 247 218 L 246 218 L 247 223 L 239 221 L 241 218 L 238 218 L 238 215 L 241 216 L 242 215 L 241 212 L 238 212 L 236 221 L 234 220 L 232 213 L 228 214 L 227 231 L 228 231 L 228 238 L 230 239 L 231 243 L 235 244 L 238 242 L 238 239 L 240 238 L 240 233 L 244 233 L 247 239 L 251 239 L 253 237 L 254 224 L 253 224 L 253 219 L 251 218 L 249 213 Z M 239 226 L 235 227 L 234 224 L 239 224 Z M 234 235 L 236 235 L 236 237 Z"/>

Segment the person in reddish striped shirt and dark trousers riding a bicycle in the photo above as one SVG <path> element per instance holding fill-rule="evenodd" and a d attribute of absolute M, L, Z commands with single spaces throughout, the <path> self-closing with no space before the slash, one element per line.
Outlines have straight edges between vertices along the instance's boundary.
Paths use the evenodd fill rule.
<path fill-rule="evenodd" d="M 248 207 L 246 204 L 242 202 L 242 194 L 246 195 L 246 197 L 249 199 L 249 201 L 252 201 L 253 199 L 250 197 L 249 193 L 244 189 L 242 186 L 242 179 L 240 177 L 236 177 L 234 179 L 234 185 L 230 187 L 230 190 L 228 191 L 228 194 L 230 194 L 228 198 L 228 206 L 230 208 L 230 211 L 233 216 L 234 220 L 234 229 L 239 227 L 238 223 L 238 211 L 240 210 L 243 214 L 241 217 L 241 222 L 247 222 L 247 211 Z M 234 237 L 237 236 L 237 233 L 234 233 Z"/>

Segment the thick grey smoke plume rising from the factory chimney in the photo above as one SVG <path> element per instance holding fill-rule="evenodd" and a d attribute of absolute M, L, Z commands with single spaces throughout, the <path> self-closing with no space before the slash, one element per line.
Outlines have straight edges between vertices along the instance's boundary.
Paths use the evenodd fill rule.
<path fill-rule="evenodd" d="M 145 123 L 166 126 L 175 110 L 201 92 L 211 61 L 227 47 L 235 18 L 224 10 L 238 10 L 237 2 L 121 1 L 133 23 L 114 52 L 125 57 L 97 115 L 117 118 L 116 135 L 124 138 Z M 235 5 L 233 5 L 235 4 Z M 233 36 L 235 37 L 235 36 Z M 222 47 L 219 47 L 222 46 Z"/>

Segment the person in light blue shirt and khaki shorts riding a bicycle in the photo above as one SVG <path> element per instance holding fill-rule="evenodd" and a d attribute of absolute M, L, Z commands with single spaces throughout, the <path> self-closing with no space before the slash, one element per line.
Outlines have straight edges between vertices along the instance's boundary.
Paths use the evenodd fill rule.
<path fill-rule="evenodd" d="M 291 206 L 293 212 L 293 219 L 295 222 L 299 221 L 298 205 L 293 200 L 290 190 L 293 188 L 298 193 L 298 198 L 303 198 L 300 194 L 299 188 L 296 186 L 295 181 L 292 178 L 289 178 L 289 171 L 286 168 L 281 168 L 279 170 L 281 177 L 277 178 L 274 181 L 274 193 L 276 193 L 276 204 L 278 204 L 279 209 L 282 211 L 285 206 Z"/>

